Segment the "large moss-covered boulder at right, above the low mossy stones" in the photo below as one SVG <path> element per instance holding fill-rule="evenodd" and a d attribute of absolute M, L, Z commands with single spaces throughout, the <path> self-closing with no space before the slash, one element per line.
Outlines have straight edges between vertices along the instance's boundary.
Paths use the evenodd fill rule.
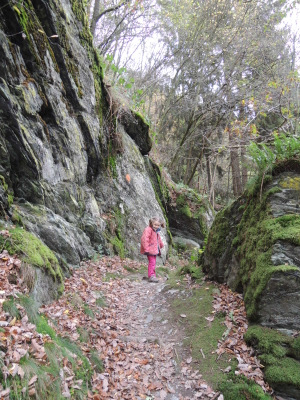
<path fill-rule="evenodd" d="M 250 190 L 218 214 L 209 233 L 204 269 L 244 293 L 250 319 L 299 329 L 300 214 L 292 203 L 297 202 L 299 189 L 282 189 L 291 179 L 295 181 L 297 174 L 282 173 L 262 193 Z"/>

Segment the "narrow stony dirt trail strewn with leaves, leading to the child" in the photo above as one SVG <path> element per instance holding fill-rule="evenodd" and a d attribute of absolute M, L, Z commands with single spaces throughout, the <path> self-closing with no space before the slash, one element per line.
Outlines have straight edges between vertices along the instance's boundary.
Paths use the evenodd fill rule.
<path fill-rule="evenodd" d="M 151 360 L 150 363 L 145 361 L 142 373 L 145 374 L 144 383 L 150 383 L 148 388 L 153 390 L 151 395 L 137 398 L 218 398 L 219 394 L 203 381 L 201 374 L 192 370 L 189 351 L 183 346 L 183 324 L 171 318 L 170 302 L 179 295 L 188 295 L 188 290 L 170 288 L 165 279 L 149 283 L 141 275 L 126 278 L 123 283 L 128 285 L 126 298 L 123 297 L 126 307 L 122 307 L 123 316 L 118 325 L 127 333 L 120 339 L 136 343 L 143 359 Z"/>

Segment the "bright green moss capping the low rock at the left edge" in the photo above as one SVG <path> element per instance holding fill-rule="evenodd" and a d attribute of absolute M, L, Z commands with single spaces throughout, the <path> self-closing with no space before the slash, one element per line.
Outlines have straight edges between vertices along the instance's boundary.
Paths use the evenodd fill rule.
<path fill-rule="evenodd" d="M 36 236 L 20 227 L 9 229 L 10 237 L 0 236 L 0 248 L 9 254 L 19 254 L 23 261 L 48 272 L 55 281 L 63 283 L 56 256 Z"/>

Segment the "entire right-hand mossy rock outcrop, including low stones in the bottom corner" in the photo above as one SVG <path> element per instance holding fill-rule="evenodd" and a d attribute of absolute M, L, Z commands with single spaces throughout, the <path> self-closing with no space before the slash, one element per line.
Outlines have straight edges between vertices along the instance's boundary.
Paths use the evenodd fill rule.
<path fill-rule="evenodd" d="M 299 382 L 293 378 L 300 374 L 299 340 L 292 338 L 300 330 L 299 172 L 300 162 L 290 171 L 273 171 L 262 192 L 258 182 L 221 211 L 203 261 L 211 278 L 243 293 L 248 318 L 260 325 L 249 341 L 260 346 L 266 379 L 286 399 L 300 399 Z M 275 347 L 267 346 L 275 330 L 283 336 Z M 278 372 L 280 365 L 284 374 Z"/>

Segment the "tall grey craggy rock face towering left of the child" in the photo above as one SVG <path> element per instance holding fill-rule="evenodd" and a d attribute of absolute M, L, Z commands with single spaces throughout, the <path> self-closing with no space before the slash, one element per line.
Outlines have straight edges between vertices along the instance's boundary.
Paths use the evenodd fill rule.
<path fill-rule="evenodd" d="M 148 125 L 131 111 L 122 121 L 112 116 L 81 0 L 7 3 L 0 214 L 13 214 L 62 267 L 95 252 L 141 257 L 149 218 L 163 218 L 142 157 L 151 148 Z"/>

